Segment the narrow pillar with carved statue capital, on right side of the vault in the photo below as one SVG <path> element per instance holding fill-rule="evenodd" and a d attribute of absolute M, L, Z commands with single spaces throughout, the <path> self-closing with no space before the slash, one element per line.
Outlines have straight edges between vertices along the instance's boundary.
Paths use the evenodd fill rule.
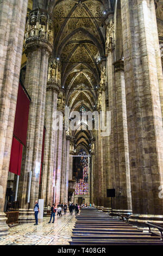
<path fill-rule="evenodd" d="M 116 188 L 117 176 L 117 138 L 116 138 L 116 103 L 115 103 L 115 76 L 114 76 L 114 54 L 115 54 L 115 41 L 114 41 L 114 17 L 109 16 L 109 24 L 106 28 L 106 69 L 107 69 L 107 82 L 108 82 L 108 102 L 109 106 L 106 108 L 111 113 L 111 133 L 106 138 L 106 189 Z M 111 206 L 110 198 L 105 198 L 105 207 Z M 113 200 L 113 207 L 115 208 L 115 200 Z"/>

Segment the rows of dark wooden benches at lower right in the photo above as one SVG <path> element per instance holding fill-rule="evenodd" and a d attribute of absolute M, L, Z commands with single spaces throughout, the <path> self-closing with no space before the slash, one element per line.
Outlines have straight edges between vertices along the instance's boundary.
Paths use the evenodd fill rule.
<path fill-rule="evenodd" d="M 72 231 L 70 245 L 163 245 L 163 227 L 147 223 L 146 233 L 128 222 L 127 216 L 111 217 L 95 208 L 82 209 Z M 158 228 L 161 236 L 151 228 Z"/>

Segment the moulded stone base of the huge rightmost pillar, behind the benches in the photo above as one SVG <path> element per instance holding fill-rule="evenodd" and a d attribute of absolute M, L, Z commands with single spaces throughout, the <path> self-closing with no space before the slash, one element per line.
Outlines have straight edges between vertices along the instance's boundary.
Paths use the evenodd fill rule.
<path fill-rule="evenodd" d="M 163 225 L 163 215 L 132 214 L 129 217 L 129 223 L 139 228 L 148 229 L 147 222 Z"/>

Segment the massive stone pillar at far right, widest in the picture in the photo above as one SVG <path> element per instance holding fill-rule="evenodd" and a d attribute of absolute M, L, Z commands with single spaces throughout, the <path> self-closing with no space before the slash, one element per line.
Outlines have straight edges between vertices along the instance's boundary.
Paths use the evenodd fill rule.
<path fill-rule="evenodd" d="M 162 74 L 154 1 L 121 0 L 121 8 L 133 217 L 159 220 Z"/>

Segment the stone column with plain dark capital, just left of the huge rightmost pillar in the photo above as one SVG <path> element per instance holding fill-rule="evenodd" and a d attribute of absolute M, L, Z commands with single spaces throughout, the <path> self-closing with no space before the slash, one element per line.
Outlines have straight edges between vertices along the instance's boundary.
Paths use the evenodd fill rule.
<path fill-rule="evenodd" d="M 131 184 L 126 113 L 126 91 L 123 60 L 113 63 L 115 67 L 116 133 L 118 173 L 116 176 L 116 205 L 118 211 L 131 211 Z"/>

